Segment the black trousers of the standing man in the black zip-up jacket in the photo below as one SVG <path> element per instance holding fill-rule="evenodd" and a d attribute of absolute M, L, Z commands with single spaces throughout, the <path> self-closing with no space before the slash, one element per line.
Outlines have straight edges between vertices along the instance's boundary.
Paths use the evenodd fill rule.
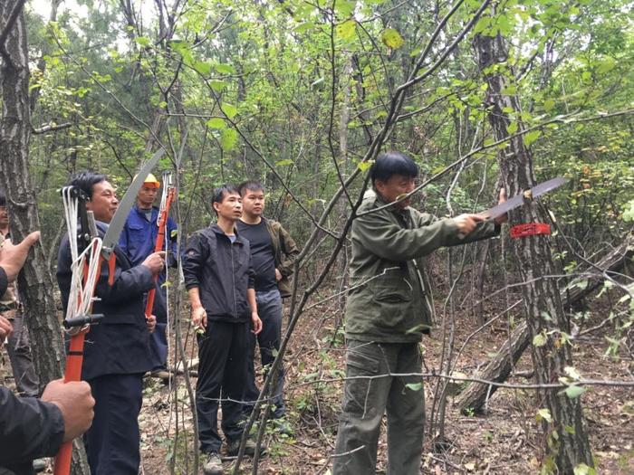
<path fill-rule="evenodd" d="M 245 391 L 250 322 L 207 322 L 198 335 L 198 381 L 196 413 L 200 450 L 219 451 L 218 402 L 222 401 L 222 430 L 227 441 L 242 437 L 245 416 L 242 394 Z"/>

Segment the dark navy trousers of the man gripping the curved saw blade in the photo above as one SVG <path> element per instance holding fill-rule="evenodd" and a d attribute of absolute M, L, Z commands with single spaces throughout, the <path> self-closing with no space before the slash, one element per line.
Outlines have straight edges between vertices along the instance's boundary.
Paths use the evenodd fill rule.
<path fill-rule="evenodd" d="M 142 374 L 91 379 L 95 416 L 84 434 L 92 475 L 139 473 L 139 412 Z"/>

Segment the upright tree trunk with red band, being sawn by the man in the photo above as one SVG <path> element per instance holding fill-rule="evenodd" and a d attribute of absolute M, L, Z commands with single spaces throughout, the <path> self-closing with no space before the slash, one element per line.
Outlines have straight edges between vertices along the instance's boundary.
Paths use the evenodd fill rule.
<path fill-rule="evenodd" d="M 506 92 L 511 85 L 506 63 L 507 51 L 501 36 L 477 35 L 475 38 L 477 63 L 483 71 L 488 85 L 486 100 L 489 122 L 495 139 L 509 137 L 507 128 L 512 122 L 517 130 L 524 130 L 520 118 L 521 107 L 517 96 Z M 495 65 L 497 69 L 492 68 Z M 513 110 L 510 116 L 508 110 Z M 524 146 L 523 136 L 509 138 L 508 146 L 498 153 L 498 163 L 506 194 L 519 195 L 535 185 L 533 156 Z M 534 202 L 515 209 L 509 214 L 510 223 L 545 223 L 543 208 Z M 570 335 L 567 320 L 555 280 L 546 276 L 555 274 L 548 236 L 529 236 L 514 240 L 515 261 L 519 275 L 525 284 L 522 287 L 526 323 L 531 337 L 540 337 L 542 345 L 533 346 L 533 367 L 537 383 L 558 381 L 566 375 L 564 368 L 572 366 L 572 354 L 565 335 Z M 561 390 L 543 388 L 538 392 L 541 404 L 550 411 L 552 422 L 543 420 L 546 430 L 543 465 L 556 467 L 560 473 L 572 473 L 574 468 L 585 463 L 593 466 L 590 443 L 583 426 L 581 402 L 571 399 Z"/>

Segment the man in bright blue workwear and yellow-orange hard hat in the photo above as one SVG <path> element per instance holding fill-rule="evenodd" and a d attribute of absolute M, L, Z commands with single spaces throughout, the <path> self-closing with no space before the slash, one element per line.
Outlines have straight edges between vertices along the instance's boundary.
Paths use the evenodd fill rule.
<path fill-rule="evenodd" d="M 128 215 L 128 221 L 121 231 L 119 246 L 121 251 L 130 259 L 133 266 L 139 265 L 154 252 L 159 234 L 157 220 L 159 218 L 159 208 L 154 206 L 154 200 L 159 193 L 160 183 L 156 176 L 151 173 L 143 182 L 137 204 L 132 207 Z M 171 262 L 175 263 L 173 257 L 176 256 L 177 243 L 175 236 L 177 225 L 168 217 L 168 229 L 165 233 L 165 240 L 168 242 L 168 249 L 171 252 Z M 168 262 L 170 259 L 168 258 Z M 168 309 L 165 288 L 161 287 L 165 281 L 165 273 L 159 275 L 157 291 L 154 298 L 152 314 L 157 318 L 157 326 L 150 337 L 150 357 L 152 361 L 151 375 L 163 380 L 169 378 L 168 369 L 168 337 L 166 328 L 168 326 Z"/>

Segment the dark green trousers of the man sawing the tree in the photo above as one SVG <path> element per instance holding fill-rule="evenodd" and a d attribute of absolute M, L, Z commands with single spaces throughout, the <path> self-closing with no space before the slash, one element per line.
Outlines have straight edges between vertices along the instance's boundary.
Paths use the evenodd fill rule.
<path fill-rule="evenodd" d="M 418 343 L 348 340 L 346 382 L 333 475 L 376 471 L 383 413 L 388 416 L 388 473 L 418 475 L 425 425 L 425 394 Z"/>

